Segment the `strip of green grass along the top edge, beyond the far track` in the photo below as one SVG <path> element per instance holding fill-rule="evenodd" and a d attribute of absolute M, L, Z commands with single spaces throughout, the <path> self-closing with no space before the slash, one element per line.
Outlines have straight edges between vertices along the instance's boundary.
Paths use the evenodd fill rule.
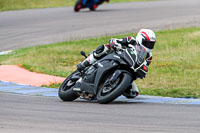
<path fill-rule="evenodd" d="M 111 3 L 138 1 L 152 0 L 110 0 Z M 0 11 L 74 6 L 75 2 L 76 0 L 0 0 Z"/>

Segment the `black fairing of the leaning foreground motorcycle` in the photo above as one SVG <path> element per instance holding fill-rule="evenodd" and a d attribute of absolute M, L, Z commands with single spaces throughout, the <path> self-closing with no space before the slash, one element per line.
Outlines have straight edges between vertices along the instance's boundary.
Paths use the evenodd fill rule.
<path fill-rule="evenodd" d="M 81 90 L 85 91 L 89 94 L 96 95 L 98 91 L 98 86 L 102 82 L 102 79 L 106 76 L 108 72 L 113 71 L 113 75 L 119 72 L 115 72 L 115 68 L 120 65 L 126 65 L 128 64 L 129 67 L 134 67 L 137 60 L 138 53 L 135 52 L 134 49 L 127 48 L 125 51 L 123 51 L 121 54 L 116 54 L 115 52 L 106 55 L 101 60 L 94 63 L 84 74 L 83 77 L 83 83 L 81 85 Z M 141 71 L 138 72 L 141 73 Z M 119 70 L 120 71 L 120 70 Z M 128 71 L 126 71 L 129 73 Z M 143 71 L 142 71 L 143 72 Z M 129 73 L 130 74 L 130 73 Z M 130 74 L 132 75 L 132 74 Z M 144 74 L 141 74 L 142 76 L 145 76 Z"/>

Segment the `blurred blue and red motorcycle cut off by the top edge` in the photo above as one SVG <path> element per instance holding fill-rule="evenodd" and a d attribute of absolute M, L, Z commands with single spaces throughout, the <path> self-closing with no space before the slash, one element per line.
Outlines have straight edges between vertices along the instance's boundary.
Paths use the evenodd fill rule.
<path fill-rule="evenodd" d="M 79 12 L 83 8 L 89 8 L 91 11 L 95 11 L 104 1 L 109 2 L 109 0 L 77 0 L 74 11 Z"/>

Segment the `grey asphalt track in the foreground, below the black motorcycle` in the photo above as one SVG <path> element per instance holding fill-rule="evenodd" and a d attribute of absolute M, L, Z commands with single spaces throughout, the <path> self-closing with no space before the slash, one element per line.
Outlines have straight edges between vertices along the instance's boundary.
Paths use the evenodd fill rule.
<path fill-rule="evenodd" d="M 0 93 L 2 133 L 198 133 L 200 108 L 189 105 L 61 102 Z"/>

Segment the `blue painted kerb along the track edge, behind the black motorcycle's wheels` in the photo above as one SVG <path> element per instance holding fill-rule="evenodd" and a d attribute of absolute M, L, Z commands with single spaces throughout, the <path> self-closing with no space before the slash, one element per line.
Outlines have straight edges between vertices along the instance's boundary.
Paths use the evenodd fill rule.
<path fill-rule="evenodd" d="M 34 87 L 5 81 L 0 81 L 0 92 L 32 96 L 58 97 L 58 89 L 55 88 Z M 86 100 L 77 99 L 76 101 Z M 139 95 L 134 99 L 127 99 L 124 96 L 120 96 L 114 102 L 200 105 L 200 99 L 195 98 L 171 98 L 148 95 Z"/>

